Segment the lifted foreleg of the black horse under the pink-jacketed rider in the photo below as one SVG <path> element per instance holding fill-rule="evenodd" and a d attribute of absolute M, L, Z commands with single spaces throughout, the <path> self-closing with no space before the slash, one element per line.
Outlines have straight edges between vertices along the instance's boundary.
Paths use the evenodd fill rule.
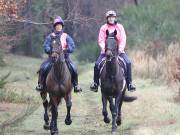
<path fill-rule="evenodd" d="M 103 104 L 102 114 L 104 116 L 104 122 L 110 123 L 111 120 L 109 119 L 107 112 L 107 98 L 103 94 L 102 94 L 102 104 Z"/>

